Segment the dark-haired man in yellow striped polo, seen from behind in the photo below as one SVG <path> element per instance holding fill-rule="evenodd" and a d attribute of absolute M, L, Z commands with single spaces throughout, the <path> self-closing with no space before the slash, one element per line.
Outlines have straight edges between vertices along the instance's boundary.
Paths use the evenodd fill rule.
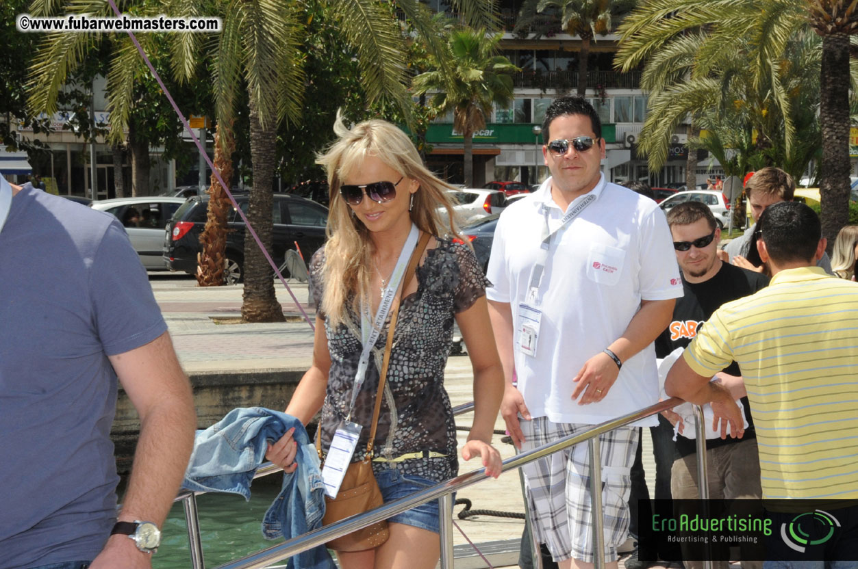
<path fill-rule="evenodd" d="M 758 231 L 770 285 L 716 310 L 671 368 L 665 390 L 694 404 L 711 402 L 715 421 L 724 419 L 722 438 L 728 424 L 741 436 L 733 396 L 710 383 L 738 362 L 757 430 L 763 499 L 825 500 L 840 526 L 831 542 L 811 542 L 817 547 L 807 559 L 825 565 L 766 561 L 764 567 L 855 567 L 840 561 L 858 559 L 858 284 L 815 266 L 826 242 L 819 218 L 804 204 L 768 207 Z"/>

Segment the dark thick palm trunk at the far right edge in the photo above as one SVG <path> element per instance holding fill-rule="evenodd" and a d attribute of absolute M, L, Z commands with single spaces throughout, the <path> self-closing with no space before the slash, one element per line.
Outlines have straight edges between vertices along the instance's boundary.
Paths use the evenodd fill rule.
<path fill-rule="evenodd" d="M 819 124 L 822 127 L 822 168 L 819 197 L 822 235 L 828 254 L 837 232 L 849 223 L 849 35 L 822 38 L 819 81 Z"/>

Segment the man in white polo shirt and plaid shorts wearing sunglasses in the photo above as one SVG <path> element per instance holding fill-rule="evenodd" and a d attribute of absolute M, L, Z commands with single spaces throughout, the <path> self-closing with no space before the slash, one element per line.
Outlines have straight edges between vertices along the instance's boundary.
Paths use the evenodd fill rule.
<path fill-rule="evenodd" d="M 507 380 L 501 414 L 523 451 L 655 404 L 652 342 L 682 296 L 656 202 L 601 174 L 593 107 L 556 99 L 542 135 L 552 177 L 498 220 L 487 275 Z M 650 417 L 600 437 L 608 567 L 628 535 L 637 426 L 656 424 Z M 587 445 L 578 445 L 524 469 L 535 536 L 561 568 L 593 564 L 588 468 Z"/>

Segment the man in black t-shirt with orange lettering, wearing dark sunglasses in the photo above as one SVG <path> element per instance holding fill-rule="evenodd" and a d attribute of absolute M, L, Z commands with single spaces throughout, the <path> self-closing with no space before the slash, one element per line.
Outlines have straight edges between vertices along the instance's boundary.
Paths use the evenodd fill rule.
<path fill-rule="evenodd" d="M 704 204 L 690 201 L 674 207 L 668 213 L 668 225 L 674 237 L 685 295 L 677 299 L 668 329 L 656 338 L 657 357 L 668 356 L 676 348 L 690 344 L 700 326 L 704 326 L 724 302 L 752 295 L 769 284 L 765 275 L 729 265 L 718 258 L 721 230 Z M 728 437 L 706 441 L 710 499 L 760 498 L 757 437 L 739 366 L 731 363 L 716 375 L 716 380 L 726 386 L 734 398 L 741 398 L 748 428 L 741 439 Z M 665 416 L 674 424 L 679 419 L 671 411 L 666 411 Z M 684 428 L 691 429 L 693 425 Z M 697 484 L 697 443 L 680 435 L 671 471 L 670 489 L 674 500 L 697 498 Z M 714 563 L 716 567 L 728 566 L 726 561 Z M 697 569 L 703 562 L 685 561 L 685 566 Z M 742 566 L 745 569 L 759 567 L 761 562 L 743 561 Z"/>

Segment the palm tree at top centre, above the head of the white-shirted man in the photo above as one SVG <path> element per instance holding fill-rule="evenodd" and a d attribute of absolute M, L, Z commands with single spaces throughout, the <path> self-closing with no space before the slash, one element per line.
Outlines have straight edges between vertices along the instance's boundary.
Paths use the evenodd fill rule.
<path fill-rule="evenodd" d="M 536 37 L 539 37 L 545 32 L 534 26 L 539 16 L 559 11 L 560 27 L 565 33 L 581 38 L 577 94 L 583 97 L 588 87 L 590 43 L 595 41 L 596 34 L 606 35 L 613 31 L 614 19 L 628 13 L 636 4 L 637 0 L 527 0 L 522 4 L 516 31 L 535 27 Z"/>

